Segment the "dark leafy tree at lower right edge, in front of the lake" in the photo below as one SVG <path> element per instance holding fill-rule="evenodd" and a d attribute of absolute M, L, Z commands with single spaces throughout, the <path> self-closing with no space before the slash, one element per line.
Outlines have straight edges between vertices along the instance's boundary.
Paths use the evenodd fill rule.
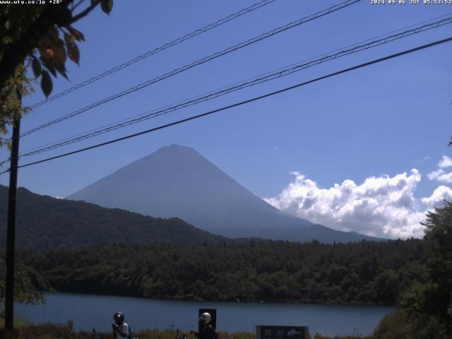
<path fill-rule="evenodd" d="M 452 203 L 427 213 L 424 227 L 426 276 L 403 291 L 375 338 L 452 338 Z"/>

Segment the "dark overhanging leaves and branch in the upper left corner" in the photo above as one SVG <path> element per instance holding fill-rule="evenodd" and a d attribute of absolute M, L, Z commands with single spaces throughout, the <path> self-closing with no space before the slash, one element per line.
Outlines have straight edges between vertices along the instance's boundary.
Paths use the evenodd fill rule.
<path fill-rule="evenodd" d="M 21 107 L 20 97 L 31 92 L 33 81 L 38 81 L 44 95 L 49 97 L 52 76 L 68 78 L 67 59 L 80 63 L 77 43 L 85 37 L 73 28 L 73 23 L 99 4 L 105 13 L 112 11 L 113 0 L 0 6 L 0 134 L 6 134 L 17 117 L 30 112 L 29 108 Z M 0 138 L 0 147 L 4 143 L 6 139 Z"/>

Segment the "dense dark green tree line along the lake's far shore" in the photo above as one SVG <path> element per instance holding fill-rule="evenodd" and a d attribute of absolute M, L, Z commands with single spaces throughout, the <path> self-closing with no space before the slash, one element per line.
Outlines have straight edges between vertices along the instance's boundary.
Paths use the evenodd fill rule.
<path fill-rule="evenodd" d="M 61 292 L 162 299 L 395 304 L 424 280 L 420 239 L 351 244 L 261 242 L 23 251 Z"/>

